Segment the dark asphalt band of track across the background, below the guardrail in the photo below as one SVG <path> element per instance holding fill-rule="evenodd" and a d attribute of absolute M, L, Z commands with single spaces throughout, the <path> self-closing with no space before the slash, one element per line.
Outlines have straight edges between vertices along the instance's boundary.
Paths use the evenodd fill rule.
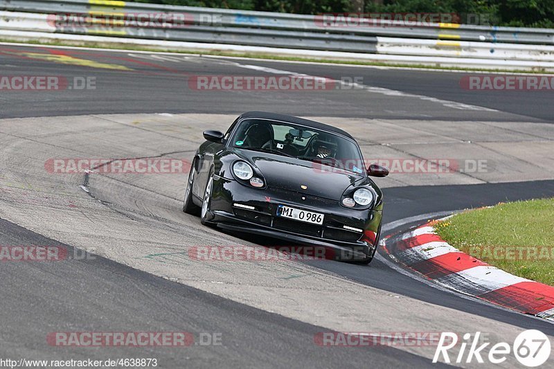
<path fill-rule="evenodd" d="M 61 56 L 60 56 L 61 54 Z M 41 56 L 42 55 L 42 56 Z M 45 56 L 46 55 L 46 56 Z M 56 56 L 57 55 L 57 56 Z M 60 116 L 100 113 L 230 113 L 261 110 L 298 116 L 348 116 L 361 118 L 433 118 L 434 120 L 492 120 L 551 122 L 552 91 L 468 91 L 460 80 L 471 73 L 425 70 L 357 68 L 352 66 L 295 64 L 256 60 L 227 60 L 214 57 L 179 57 L 148 53 L 77 51 L 73 49 L 22 47 L 0 44 L 3 75 L 63 75 L 96 78 L 95 90 L 62 91 L 55 97 L 36 91 L 17 91 L 0 96 L 0 118 Z M 65 57 L 66 60 L 60 58 Z M 68 61 L 93 60 L 125 66 L 127 71 L 87 68 L 87 64 Z M 158 57 L 160 57 L 158 55 Z M 57 59 L 56 59 L 57 58 Z M 57 62 L 48 62 L 48 60 Z M 188 88 L 191 75 L 267 75 L 258 69 L 238 69 L 249 64 L 282 69 L 325 78 L 356 79 L 373 87 L 452 100 L 499 111 L 450 109 L 425 100 L 402 98 L 395 93 L 373 94 L 368 98 L 355 89 L 337 91 L 195 91 Z M 305 100 L 310 101 L 306 109 Z M 217 102 L 213 104 L 211 102 Z M 509 113 L 509 114 L 505 114 Z"/>

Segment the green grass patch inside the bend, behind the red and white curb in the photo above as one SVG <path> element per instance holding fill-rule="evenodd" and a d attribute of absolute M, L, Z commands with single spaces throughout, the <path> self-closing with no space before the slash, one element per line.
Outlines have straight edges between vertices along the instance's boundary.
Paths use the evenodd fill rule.
<path fill-rule="evenodd" d="M 523 278 L 554 285 L 554 199 L 469 210 L 436 224 L 452 246 Z"/>

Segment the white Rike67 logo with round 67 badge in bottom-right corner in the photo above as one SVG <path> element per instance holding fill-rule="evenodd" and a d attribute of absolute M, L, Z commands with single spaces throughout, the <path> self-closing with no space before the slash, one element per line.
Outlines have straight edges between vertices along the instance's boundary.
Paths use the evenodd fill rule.
<path fill-rule="evenodd" d="M 550 340 L 539 330 L 521 332 L 511 346 L 506 342 L 499 342 L 488 348 L 490 342 L 480 345 L 482 343 L 480 336 L 481 332 L 476 332 L 473 336 L 470 333 L 464 334 L 460 350 L 451 361 L 449 350 L 458 345 L 458 334 L 443 332 L 440 335 L 433 362 L 474 363 L 476 361 L 484 363 L 483 357 L 485 357 L 490 363 L 500 364 L 506 361 L 508 355 L 513 354 L 519 363 L 535 368 L 546 363 L 551 354 Z M 485 355 L 486 350 L 488 350 L 488 354 Z"/>

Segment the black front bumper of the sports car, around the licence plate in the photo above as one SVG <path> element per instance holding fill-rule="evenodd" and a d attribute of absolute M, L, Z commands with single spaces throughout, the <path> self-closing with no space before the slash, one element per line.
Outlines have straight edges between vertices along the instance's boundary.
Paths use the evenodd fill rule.
<path fill-rule="evenodd" d="M 323 224 L 278 217 L 278 205 L 323 213 Z M 380 210 L 345 208 L 339 201 L 292 190 L 249 188 L 220 176 L 214 177 L 210 211 L 210 221 L 220 228 L 330 248 L 341 260 L 373 256 L 382 222 Z"/>

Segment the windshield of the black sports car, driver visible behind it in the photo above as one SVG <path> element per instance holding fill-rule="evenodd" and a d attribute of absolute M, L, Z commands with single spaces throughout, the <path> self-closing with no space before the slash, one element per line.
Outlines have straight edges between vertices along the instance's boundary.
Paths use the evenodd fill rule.
<path fill-rule="evenodd" d="M 231 138 L 231 145 L 364 173 L 364 162 L 354 141 L 294 123 L 245 119 Z"/>

